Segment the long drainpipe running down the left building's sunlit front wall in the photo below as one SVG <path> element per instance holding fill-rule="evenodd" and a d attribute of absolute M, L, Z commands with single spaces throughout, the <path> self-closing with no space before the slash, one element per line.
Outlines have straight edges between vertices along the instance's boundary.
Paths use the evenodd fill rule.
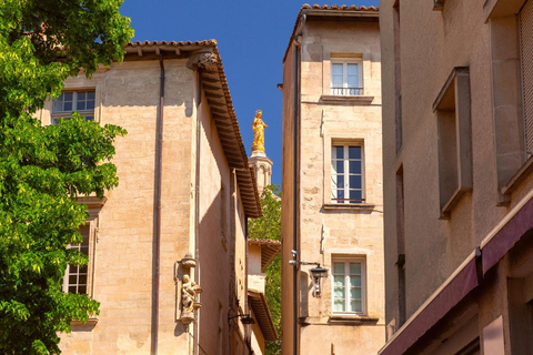
<path fill-rule="evenodd" d="M 161 266 L 161 184 L 163 163 L 163 108 L 164 108 L 164 63 L 163 53 L 159 54 L 161 67 L 159 114 L 155 128 L 155 171 L 154 171 L 154 211 L 153 211 L 153 281 L 152 281 L 152 344 L 151 354 L 158 354 L 159 341 L 159 280 Z"/>

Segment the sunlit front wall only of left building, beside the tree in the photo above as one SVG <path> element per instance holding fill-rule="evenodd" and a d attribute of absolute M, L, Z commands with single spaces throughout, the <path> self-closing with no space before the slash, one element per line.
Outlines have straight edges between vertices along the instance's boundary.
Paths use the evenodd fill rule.
<path fill-rule="evenodd" d="M 73 332 L 61 343 L 63 353 L 88 354 L 91 336 L 94 354 L 147 354 L 150 352 L 153 166 L 159 63 L 127 62 L 105 71 L 98 89 L 101 124 L 117 124 L 128 135 L 117 141 L 113 160 L 119 187 L 107 194 L 99 214 L 94 257 L 94 298 L 101 303 L 98 324 L 90 332 Z M 173 265 L 188 251 L 194 80 L 183 61 L 167 63 L 163 146 L 163 210 L 161 234 L 160 351 L 187 348 L 185 336 L 174 336 L 175 286 Z M 69 81 L 66 88 L 92 83 Z M 98 90 L 97 89 L 97 90 Z M 181 164 L 173 164 L 180 161 Z M 179 217 L 177 217 L 179 216 Z M 84 326 L 84 331 L 87 331 Z M 90 329 L 90 328 L 89 328 Z"/>

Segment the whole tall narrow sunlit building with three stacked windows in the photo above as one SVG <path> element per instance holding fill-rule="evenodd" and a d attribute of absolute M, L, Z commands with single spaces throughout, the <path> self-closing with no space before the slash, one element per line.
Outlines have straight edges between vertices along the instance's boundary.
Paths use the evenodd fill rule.
<path fill-rule="evenodd" d="M 283 354 L 384 344 L 380 67 L 375 8 L 302 7 L 283 59 Z"/>

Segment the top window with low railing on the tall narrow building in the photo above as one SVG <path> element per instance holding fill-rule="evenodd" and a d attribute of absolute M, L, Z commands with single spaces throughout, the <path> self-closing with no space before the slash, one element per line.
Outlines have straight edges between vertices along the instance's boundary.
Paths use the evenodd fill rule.
<path fill-rule="evenodd" d="M 344 59 L 331 61 L 331 94 L 362 95 L 362 61 Z"/>

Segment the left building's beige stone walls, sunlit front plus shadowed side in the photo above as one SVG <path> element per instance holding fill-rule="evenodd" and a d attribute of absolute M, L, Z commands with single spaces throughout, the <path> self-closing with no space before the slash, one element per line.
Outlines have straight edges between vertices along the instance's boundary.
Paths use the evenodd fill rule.
<path fill-rule="evenodd" d="M 197 255 L 195 281 L 203 287 L 195 324 L 209 354 L 229 354 L 230 275 L 237 272 L 245 307 L 245 217 L 234 172 L 225 160 L 205 97 L 197 108 L 197 74 L 187 60 L 165 61 L 162 164 L 162 234 L 159 353 L 188 354 L 193 339 L 177 322 L 174 264 Z M 120 184 L 107 193 L 98 215 L 93 296 L 101 303 L 95 325 L 62 335 L 63 354 L 149 354 L 152 326 L 155 122 L 159 61 L 127 61 L 101 69 L 93 80 L 72 78 L 66 89 L 95 89 L 95 120 L 128 135 L 115 143 Z M 51 103 L 38 113 L 50 123 Z M 197 120 L 200 170 L 195 171 Z M 194 245 L 194 182 L 199 174 L 200 221 Z M 222 189 L 223 186 L 223 189 Z M 235 190 L 231 193 L 231 189 Z M 231 209 L 235 209 L 231 212 Z M 221 212 L 224 211 L 225 212 Z M 233 220 L 232 220 L 233 219 Z M 235 257 L 235 263 L 232 258 Z M 235 271 L 232 270 L 234 265 Z M 238 268 L 239 267 L 239 268 Z M 237 288 L 235 288 L 237 290 Z M 242 326 L 241 326 L 242 328 Z M 241 329 L 242 337 L 244 329 Z"/>

